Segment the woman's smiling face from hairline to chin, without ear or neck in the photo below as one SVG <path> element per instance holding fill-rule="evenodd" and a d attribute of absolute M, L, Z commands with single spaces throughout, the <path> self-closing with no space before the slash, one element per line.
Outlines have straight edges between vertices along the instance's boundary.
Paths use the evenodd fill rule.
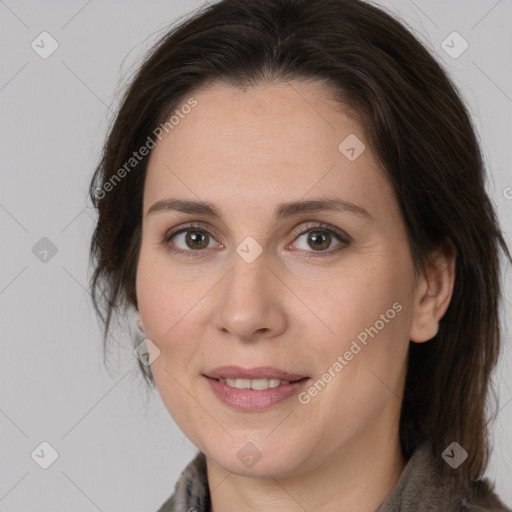
<path fill-rule="evenodd" d="M 320 83 L 193 97 L 150 157 L 136 282 L 169 413 L 238 474 L 291 475 L 398 439 L 418 292 L 362 127 Z M 305 379 L 209 378 L 258 388 L 279 372 Z"/>

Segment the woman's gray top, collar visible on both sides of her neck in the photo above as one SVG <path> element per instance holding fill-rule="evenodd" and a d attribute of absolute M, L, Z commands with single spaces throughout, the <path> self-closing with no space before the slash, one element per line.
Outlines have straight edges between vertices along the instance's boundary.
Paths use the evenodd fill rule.
<path fill-rule="evenodd" d="M 456 470 L 454 470 L 454 475 Z M 375 512 L 512 512 L 487 480 L 455 484 L 435 469 L 429 445 L 419 447 L 407 462 L 395 488 Z M 210 512 L 206 458 L 198 452 L 182 471 L 174 494 L 158 512 Z"/>

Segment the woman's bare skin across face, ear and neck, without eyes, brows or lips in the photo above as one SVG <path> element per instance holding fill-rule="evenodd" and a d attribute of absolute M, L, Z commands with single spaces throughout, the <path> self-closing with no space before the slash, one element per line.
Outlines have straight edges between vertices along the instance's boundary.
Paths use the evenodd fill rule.
<path fill-rule="evenodd" d="M 323 84 L 216 85 L 193 96 L 198 105 L 152 151 L 144 189 L 136 290 L 146 336 L 160 350 L 158 392 L 207 457 L 213 511 L 375 511 L 405 465 L 398 427 L 409 342 L 436 334 L 454 255 L 439 251 L 415 277 L 393 190 L 362 127 Z M 338 149 L 350 134 L 366 146 L 354 161 Z M 170 197 L 211 202 L 223 220 L 147 215 Z M 272 220 L 283 202 L 326 197 L 372 218 L 330 211 Z M 188 222 L 207 231 L 206 248 L 184 234 L 162 243 Z M 310 222 L 351 241 L 331 234 L 315 250 L 308 233 L 326 233 L 308 232 Z M 252 263 L 236 252 L 248 236 L 263 249 Z M 314 382 L 397 302 L 401 311 L 307 404 L 292 396 L 237 411 L 202 376 L 225 364 L 272 365 Z M 252 467 L 237 457 L 247 442 L 261 453 Z"/>

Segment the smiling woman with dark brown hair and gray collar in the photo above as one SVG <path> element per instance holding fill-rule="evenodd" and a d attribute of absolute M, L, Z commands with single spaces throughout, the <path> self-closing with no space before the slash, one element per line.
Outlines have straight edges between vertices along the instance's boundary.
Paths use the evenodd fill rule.
<path fill-rule="evenodd" d="M 105 341 L 135 308 L 199 449 L 161 512 L 510 510 L 484 180 L 450 80 L 367 3 L 222 0 L 159 41 L 90 193 Z"/>

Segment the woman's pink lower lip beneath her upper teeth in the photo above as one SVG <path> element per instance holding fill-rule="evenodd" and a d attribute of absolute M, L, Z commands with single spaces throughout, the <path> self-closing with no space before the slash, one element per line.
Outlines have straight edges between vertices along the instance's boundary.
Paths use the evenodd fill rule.
<path fill-rule="evenodd" d="M 206 377 L 217 398 L 234 409 L 242 411 L 260 411 L 297 393 L 306 385 L 308 378 L 262 390 L 238 389 L 225 382 Z"/>

